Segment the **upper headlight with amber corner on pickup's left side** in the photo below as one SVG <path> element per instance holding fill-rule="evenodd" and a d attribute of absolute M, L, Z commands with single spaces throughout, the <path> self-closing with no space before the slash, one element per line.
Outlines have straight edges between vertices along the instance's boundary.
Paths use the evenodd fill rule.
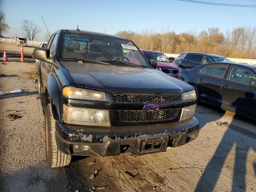
<path fill-rule="evenodd" d="M 75 88 L 64 87 L 62 94 L 67 98 L 72 99 L 86 99 L 94 101 L 107 101 L 106 94 L 104 92 Z"/>

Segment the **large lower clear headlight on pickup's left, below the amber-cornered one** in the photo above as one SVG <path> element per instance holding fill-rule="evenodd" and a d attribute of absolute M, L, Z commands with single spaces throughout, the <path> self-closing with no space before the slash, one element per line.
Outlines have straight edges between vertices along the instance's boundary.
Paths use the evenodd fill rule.
<path fill-rule="evenodd" d="M 68 124 L 110 126 L 108 110 L 70 107 L 63 104 L 63 118 Z"/>

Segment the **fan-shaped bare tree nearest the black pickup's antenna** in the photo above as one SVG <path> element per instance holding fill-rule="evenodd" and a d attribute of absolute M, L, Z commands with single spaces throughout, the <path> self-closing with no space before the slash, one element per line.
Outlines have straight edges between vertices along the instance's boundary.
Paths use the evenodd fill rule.
<path fill-rule="evenodd" d="M 29 20 L 23 20 L 21 22 L 22 24 L 22 30 L 24 31 L 24 36 L 26 36 L 26 38 L 28 38 L 30 41 L 32 41 L 36 34 L 38 34 L 41 29 L 38 28 L 38 26 L 32 22 L 32 21 L 29 21 Z"/>

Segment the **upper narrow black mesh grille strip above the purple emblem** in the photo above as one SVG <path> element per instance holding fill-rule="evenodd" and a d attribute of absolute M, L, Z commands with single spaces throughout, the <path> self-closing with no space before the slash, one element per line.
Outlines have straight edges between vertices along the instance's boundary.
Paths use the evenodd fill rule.
<path fill-rule="evenodd" d="M 118 103 L 168 103 L 180 102 L 181 94 L 113 94 Z"/>

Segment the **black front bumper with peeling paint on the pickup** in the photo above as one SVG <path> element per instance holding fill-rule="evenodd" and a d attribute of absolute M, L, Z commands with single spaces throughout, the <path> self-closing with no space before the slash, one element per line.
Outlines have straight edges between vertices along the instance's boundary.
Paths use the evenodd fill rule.
<path fill-rule="evenodd" d="M 65 154 L 113 156 L 124 152 L 134 155 L 163 152 L 168 146 L 194 140 L 198 133 L 199 122 L 191 118 L 168 124 L 118 127 L 71 126 L 56 121 L 55 136 L 58 149 Z"/>

